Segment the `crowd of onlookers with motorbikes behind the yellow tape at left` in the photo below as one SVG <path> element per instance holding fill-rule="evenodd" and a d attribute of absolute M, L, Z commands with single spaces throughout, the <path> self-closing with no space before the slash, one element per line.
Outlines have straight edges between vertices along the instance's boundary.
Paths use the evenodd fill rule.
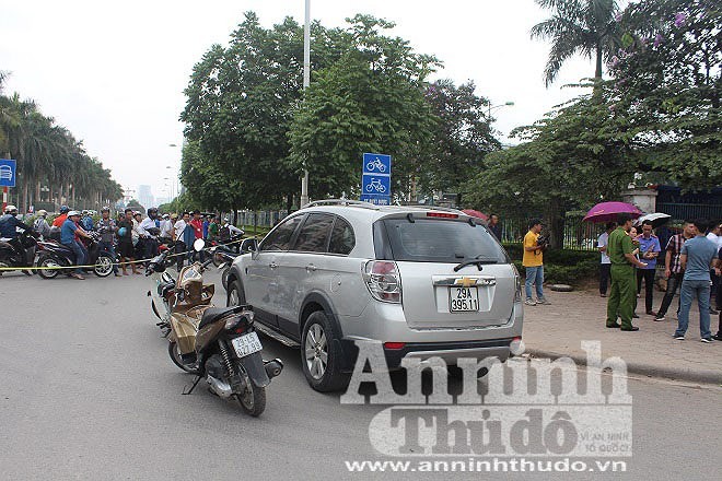
<path fill-rule="evenodd" d="M 116 277 L 142 273 L 139 263 L 148 262 L 158 256 L 161 246 L 174 249 L 176 266 L 180 270 L 184 261 L 194 262 L 198 257 L 205 260 L 205 253 L 197 253 L 193 245 L 196 239 L 207 242 L 225 242 L 232 236 L 242 235 L 243 231 L 230 223 L 230 219 L 219 221 L 216 214 L 201 214 L 200 211 L 161 214 L 156 208 L 148 209 L 147 215 L 132 209 L 118 212 L 116 219 L 110 216 L 110 209 L 101 209 L 101 218 L 94 222 L 91 211 L 70 210 L 62 206 L 60 214 L 51 223 L 45 210 L 37 212 L 37 219 L 32 226 L 18 219 L 18 208 L 8 206 L 0 218 L 0 237 L 14 242 L 18 230 L 32 230 L 44 239 L 55 239 L 68 247 L 74 254 L 74 266 L 84 266 L 88 261 L 88 248 L 84 238 L 91 238 L 92 232 L 97 235 L 101 249 L 113 258 L 113 272 Z M 123 273 L 120 273 L 120 271 Z M 30 272 L 26 271 L 30 274 Z M 78 267 L 70 273 L 75 279 L 84 279 L 83 270 Z"/>

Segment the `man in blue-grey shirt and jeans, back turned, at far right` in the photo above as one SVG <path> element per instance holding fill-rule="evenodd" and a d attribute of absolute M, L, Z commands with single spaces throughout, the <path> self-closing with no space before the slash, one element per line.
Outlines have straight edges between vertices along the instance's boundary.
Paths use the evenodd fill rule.
<path fill-rule="evenodd" d="M 702 342 L 712 342 L 710 332 L 710 267 L 720 274 L 717 246 L 704 237 L 704 221 L 694 221 L 695 237 L 682 246 L 679 261 L 685 269 L 682 280 L 682 304 L 679 307 L 679 326 L 674 333 L 678 340 L 685 339 L 689 324 L 689 309 L 692 297 L 697 296 L 699 306 L 699 333 Z"/>

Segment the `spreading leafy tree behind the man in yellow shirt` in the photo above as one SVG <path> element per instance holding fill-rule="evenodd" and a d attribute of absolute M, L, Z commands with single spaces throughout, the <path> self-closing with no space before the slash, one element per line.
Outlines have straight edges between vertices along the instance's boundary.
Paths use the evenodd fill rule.
<path fill-rule="evenodd" d="M 467 200 L 506 216 L 543 214 L 561 247 L 567 212 L 614 198 L 634 172 L 617 122 L 606 104 L 584 97 L 514 130 L 523 143 L 486 157 Z"/>

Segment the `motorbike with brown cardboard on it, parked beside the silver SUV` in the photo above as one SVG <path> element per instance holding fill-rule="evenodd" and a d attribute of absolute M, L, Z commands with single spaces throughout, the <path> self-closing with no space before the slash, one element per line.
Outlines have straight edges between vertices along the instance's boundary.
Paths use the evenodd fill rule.
<path fill-rule="evenodd" d="M 203 248 L 202 239 L 194 248 Z M 212 260 L 195 262 L 180 270 L 177 281 L 165 272 L 167 251 L 153 258 L 147 268 L 152 303 L 163 304 L 161 322 L 170 327 L 168 354 L 173 363 L 198 376 L 209 390 L 223 399 L 235 398 L 243 410 L 257 417 L 266 409 L 266 386 L 281 374 L 279 359 L 264 361 L 263 345 L 253 324 L 249 305 L 213 307 L 213 284 L 203 284 L 202 273 Z M 160 315 L 154 308 L 156 315 Z"/>

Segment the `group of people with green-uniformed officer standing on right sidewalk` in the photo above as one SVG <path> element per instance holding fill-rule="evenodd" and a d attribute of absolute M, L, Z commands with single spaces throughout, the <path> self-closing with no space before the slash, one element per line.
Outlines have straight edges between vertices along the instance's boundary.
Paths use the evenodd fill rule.
<path fill-rule="evenodd" d="M 659 310 L 653 309 L 654 285 L 659 257 L 662 254 L 660 238 L 654 235 L 652 221 L 634 226 L 629 214 L 619 214 L 616 223 L 606 225 L 599 235 L 601 251 L 599 295 L 607 296 L 606 326 L 622 331 L 637 331 L 632 325 L 644 283 L 644 310 L 655 321 L 665 320 L 667 310 L 679 289 L 677 307 L 678 326 L 674 333 L 684 340 L 689 325 L 689 312 L 695 297 L 699 307 L 700 337 L 702 342 L 722 340 L 722 283 L 720 259 L 722 258 L 722 224 L 710 224 L 704 220 L 686 221 L 680 233 L 673 235 L 664 249 L 664 279 L 666 291 Z M 712 298 L 717 308 L 712 308 Z M 711 315 L 720 315 L 715 336 L 710 330 Z M 617 319 L 620 322 L 617 322 Z"/>

